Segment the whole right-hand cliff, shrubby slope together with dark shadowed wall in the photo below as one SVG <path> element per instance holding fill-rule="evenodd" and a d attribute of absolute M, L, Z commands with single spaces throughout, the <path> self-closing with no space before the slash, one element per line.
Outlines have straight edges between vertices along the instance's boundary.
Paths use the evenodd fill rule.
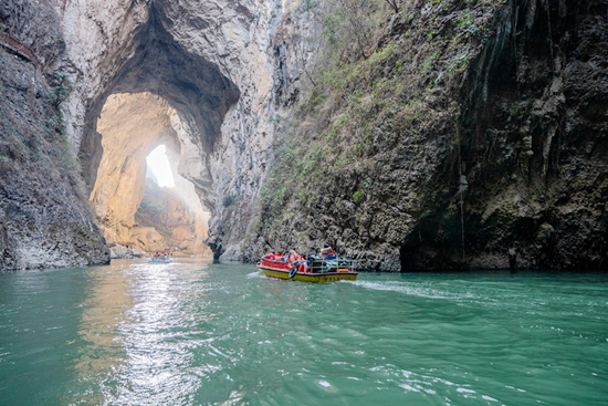
<path fill-rule="evenodd" d="M 315 77 L 248 257 L 606 269 L 608 2 L 401 4 Z"/>

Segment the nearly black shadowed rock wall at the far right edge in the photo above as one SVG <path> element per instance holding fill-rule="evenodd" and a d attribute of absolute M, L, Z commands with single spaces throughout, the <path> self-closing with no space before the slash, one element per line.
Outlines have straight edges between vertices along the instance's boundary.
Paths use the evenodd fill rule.
<path fill-rule="evenodd" d="M 469 263 L 606 270 L 608 2 L 503 13 L 462 91 Z"/>

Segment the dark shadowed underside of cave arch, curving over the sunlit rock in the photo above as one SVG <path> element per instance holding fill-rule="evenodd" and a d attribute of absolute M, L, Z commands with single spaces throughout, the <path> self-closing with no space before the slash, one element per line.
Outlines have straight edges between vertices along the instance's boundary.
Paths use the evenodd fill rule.
<path fill-rule="evenodd" d="M 85 184 L 91 192 L 97 178 L 102 159 L 102 136 L 97 121 L 107 98 L 118 93 L 151 93 L 163 97 L 175 108 L 180 118 L 178 138 L 187 144 L 191 160 L 196 155 L 200 163 L 195 170 L 182 175 L 195 184 L 205 206 L 213 210 L 208 198 L 212 179 L 208 155 L 221 134 L 226 114 L 238 102 L 240 91 L 219 69 L 205 58 L 186 51 L 167 32 L 160 6 L 151 3 L 149 19 L 133 35 L 133 56 L 119 61 L 120 67 L 85 108 L 84 131 L 80 146 L 80 159 Z"/>

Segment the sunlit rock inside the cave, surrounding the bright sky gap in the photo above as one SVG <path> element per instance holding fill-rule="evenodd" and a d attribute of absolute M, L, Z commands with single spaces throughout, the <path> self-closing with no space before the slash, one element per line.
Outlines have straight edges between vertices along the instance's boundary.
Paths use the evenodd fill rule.
<path fill-rule="evenodd" d="M 148 252 L 209 251 L 203 243 L 209 215 L 193 186 L 178 174 L 181 145 L 174 125 L 181 128 L 179 116 L 159 96 L 145 92 L 107 98 L 97 122 L 103 154 L 90 197 L 107 240 Z M 146 157 L 158 145 L 168 147 L 174 164 L 176 185 L 166 191 L 145 183 Z"/>

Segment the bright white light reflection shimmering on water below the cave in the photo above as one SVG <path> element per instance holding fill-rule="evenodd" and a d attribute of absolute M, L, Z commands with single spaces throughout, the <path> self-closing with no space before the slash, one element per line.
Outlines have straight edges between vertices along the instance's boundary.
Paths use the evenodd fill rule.
<path fill-rule="evenodd" d="M 115 398 L 109 404 L 129 404 L 149 399 L 155 404 L 180 405 L 191 402 L 200 387 L 206 367 L 193 367 L 195 353 L 201 347 L 197 323 L 205 314 L 192 308 L 205 305 L 207 271 L 172 271 L 174 264 L 133 267 L 129 288 L 134 304 L 119 324 L 127 355 L 126 365 L 115 379 Z M 195 282 L 195 283 L 192 283 Z"/>

